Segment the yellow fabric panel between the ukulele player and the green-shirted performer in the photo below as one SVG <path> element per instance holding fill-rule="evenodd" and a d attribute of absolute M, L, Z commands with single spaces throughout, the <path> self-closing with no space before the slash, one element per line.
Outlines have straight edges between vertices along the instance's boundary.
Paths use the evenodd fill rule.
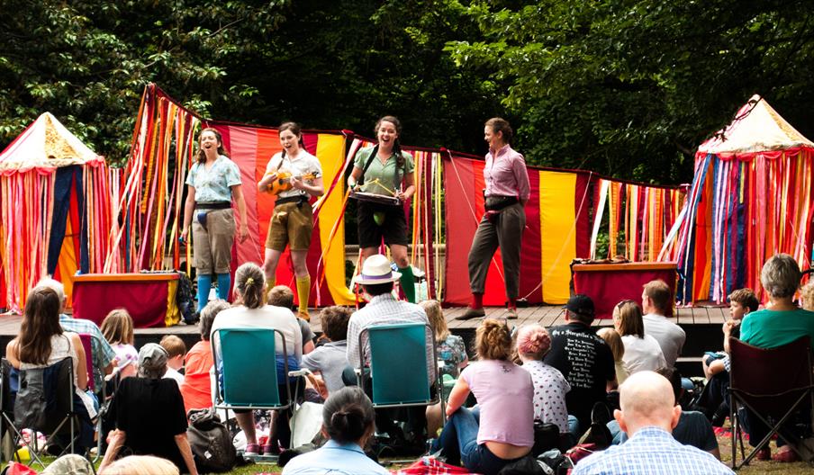
<path fill-rule="evenodd" d="M 322 166 L 322 182 L 325 192 L 333 181 L 333 177 L 341 172 L 345 157 L 345 137 L 341 135 L 320 134 L 317 140 L 317 157 L 320 157 Z M 325 282 L 330 291 L 330 297 L 336 305 L 354 305 L 354 294 L 345 285 L 345 220 L 342 217 L 342 198 L 344 187 L 337 184 L 337 189 L 322 205 L 320 220 L 320 242 L 322 246 L 322 264 L 325 266 Z M 337 220 L 339 227 L 330 243 L 330 229 Z M 328 252 L 325 253 L 325 249 Z M 319 276 L 317 276 L 319 277 Z"/>

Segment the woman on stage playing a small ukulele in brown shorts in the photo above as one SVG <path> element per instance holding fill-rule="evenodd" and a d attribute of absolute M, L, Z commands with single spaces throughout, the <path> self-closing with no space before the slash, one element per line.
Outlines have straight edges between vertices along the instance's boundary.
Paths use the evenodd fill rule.
<path fill-rule="evenodd" d="M 300 305 L 297 316 L 309 320 L 308 299 L 311 295 L 311 275 L 305 257 L 311 246 L 313 231 L 312 197 L 325 193 L 322 186 L 320 159 L 305 150 L 300 124 L 285 122 L 279 128 L 283 150 L 268 160 L 266 175 L 258 183 L 260 192 L 277 195 L 266 237 L 267 291 L 276 282 L 275 272 L 285 246 L 291 248 L 291 262 L 297 279 L 297 298 Z"/>

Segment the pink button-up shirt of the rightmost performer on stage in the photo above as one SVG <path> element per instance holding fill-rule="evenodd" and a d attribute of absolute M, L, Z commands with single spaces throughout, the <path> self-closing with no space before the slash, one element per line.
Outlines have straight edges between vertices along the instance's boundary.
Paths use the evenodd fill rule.
<path fill-rule="evenodd" d="M 525 201 L 531 194 L 526 160 L 509 145 L 504 145 L 494 156 L 491 150 L 486 154 L 484 179 L 486 196 L 517 196 Z"/>

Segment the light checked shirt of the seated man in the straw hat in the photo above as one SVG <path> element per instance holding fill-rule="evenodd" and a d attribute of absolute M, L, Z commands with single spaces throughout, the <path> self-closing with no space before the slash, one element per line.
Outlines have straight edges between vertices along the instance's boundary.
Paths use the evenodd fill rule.
<path fill-rule="evenodd" d="M 410 302 L 395 300 L 392 294 L 376 295 L 367 303 L 364 309 L 357 310 L 350 316 L 348 322 L 348 363 L 359 368 L 359 335 L 368 327 L 380 325 L 394 325 L 398 323 L 429 324 L 424 309 Z M 370 346 L 367 336 L 362 339 L 365 345 L 366 362 L 370 365 Z M 427 374 L 430 384 L 435 381 L 435 372 L 438 371 L 432 354 L 432 335 L 427 332 Z"/>

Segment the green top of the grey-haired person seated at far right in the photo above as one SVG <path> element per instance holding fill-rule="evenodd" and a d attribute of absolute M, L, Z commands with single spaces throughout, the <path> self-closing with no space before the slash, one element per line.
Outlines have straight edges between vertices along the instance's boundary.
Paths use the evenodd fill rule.
<path fill-rule="evenodd" d="M 740 324 L 740 340 L 758 348 L 787 345 L 800 336 L 814 342 L 814 312 L 796 310 L 757 310 Z"/>

